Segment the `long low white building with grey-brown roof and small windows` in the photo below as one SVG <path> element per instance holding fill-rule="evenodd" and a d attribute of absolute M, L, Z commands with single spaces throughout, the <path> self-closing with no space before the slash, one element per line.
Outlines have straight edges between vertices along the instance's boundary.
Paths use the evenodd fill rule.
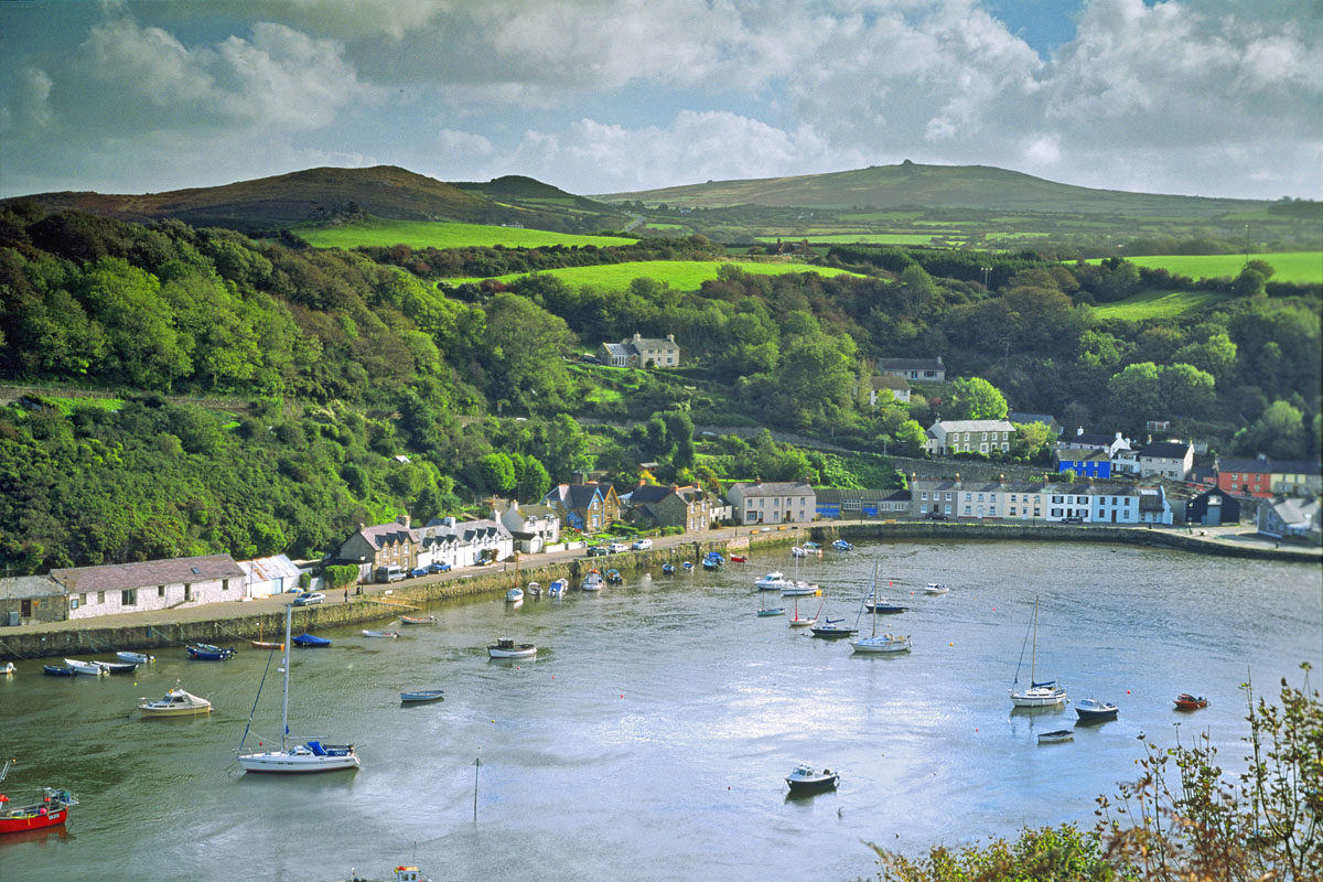
<path fill-rule="evenodd" d="M 229 554 L 52 570 L 70 619 L 239 600 L 247 574 Z"/>

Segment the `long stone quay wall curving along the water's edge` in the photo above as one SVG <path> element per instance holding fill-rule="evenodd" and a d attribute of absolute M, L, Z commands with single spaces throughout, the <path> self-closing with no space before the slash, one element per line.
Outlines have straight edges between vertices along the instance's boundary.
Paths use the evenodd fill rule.
<path fill-rule="evenodd" d="M 589 569 L 618 569 L 640 573 L 660 569 L 663 563 L 693 561 L 697 565 L 706 551 L 747 554 L 757 569 L 779 546 L 815 541 L 830 545 L 832 540 L 860 541 L 1021 541 L 1021 542 L 1097 542 L 1105 545 L 1139 545 L 1220 557 L 1299 562 L 1318 565 L 1323 551 L 1318 547 L 1278 547 L 1271 540 L 1245 532 L 1248 528 L 1103 526 L 1024 522 L 931 522 L 931 521 L 814 521 L 803 525 L 736 526 L 709 530 L 701 538 L 693 534 L 654 540 L 647 551 L 628 551 L 609 557 L 583 557 L 582 550 L 565 550 L 520 555 L 519 561 L 466 567 L 390 584 L 353 586 L 324 591 L 325 602 L 298 607 L 294 627 L 316 631 L 393 619 L 427 603 L 451 598 L 503 594 L 516 583 L 529 581 L 546 584 L 568 579 L 577 584 Z M 785 566 L 785 561 L 779 562 Z M 771 565 L 769 569 L 777 569 Z M 751 573 L 753 570 L 750 570 Z M 516 575 L 517 574 L 517 575 Z M 89 620 L 33 623 L 0 628 L 0 661 L 22 661 L 52 656 L 115 652 L 118 649 L 155 651 L 184 647 L 189 643 L 238 645 L 250 640 L 271 639 L 284 628 L 284 608 L 292 595 L 274 595 L 246 602 L 210 603 L 177 610 L 126 612 Z"/>

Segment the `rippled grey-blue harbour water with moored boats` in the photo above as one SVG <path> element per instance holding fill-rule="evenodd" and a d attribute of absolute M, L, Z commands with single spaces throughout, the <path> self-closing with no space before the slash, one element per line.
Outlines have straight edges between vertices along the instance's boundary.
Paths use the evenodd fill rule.
<path fill-rule="evenodd" d="M 433 878 L 867 878 L 867 841 L 918 853 L 1023 825 L 1091 824 L 1094 799 L 1135 778 L 1140 734 L 1164 747 L 1207 731 L 1234 771 L 1240 684 L 1271 698 L 1282 677 L 1301 684 L 1302 661 L 1315 686 L 1323 677 L 1315 566 L 1129 546 L 875 543 L 804 562 L 802 577 L 827 594 L 800 598 L 800 611 L 824 604 L 853 619 L 876 561 L 882 596 L 909 603 L 880 631 L 910 635 L 910 653 L 853 656 L 845 641 L 758 616 L 753 581 L 792 574 L 789 551 L 519 608 L 500 594 L 435 604 L 437 625 L 389 625 L 398 640 L 325 632 L 331 648 L 294 652 L 290 729 L 353 741 L 357 772 L 239 771 L 265 651 L 225 662 L 160 651 L 135 677 L 101 680 L 19 662 L 0 678 L 0 748 L 19 760 L 3 789 L 64 787 L 82 804 L 66 830 L 0 837 L 0 882 L 315 882 L 351 867 L 386 878 L 401 862 Z M 951 591 L 923 595 L 927 582 Z M 1060 744 L 1039 746 L 1037 733 L 1072 727 L 1073 706 L 1013 713 L 1007 696 L 1035 598 L 1039 678 L 1121 707 Z M 537 659 L 488 660 L 497 636 L 536 643 Z M 86 657 L 110 659 L 106 649 Z M 1028 653 L 1024 664 L 1021 684 Z M 253 722 L 266 743 L 279 739 L 278 668 L 279 656 Z M 140 719 L 140 697 L 176 681 L 216 711 Z M 433 688 L 445 701 L 398 701 Z M 1175 711 L 1180 692 L 1211 705 Z M 839 770 L 840 789 L 787 797 L 799 760 Z"/>

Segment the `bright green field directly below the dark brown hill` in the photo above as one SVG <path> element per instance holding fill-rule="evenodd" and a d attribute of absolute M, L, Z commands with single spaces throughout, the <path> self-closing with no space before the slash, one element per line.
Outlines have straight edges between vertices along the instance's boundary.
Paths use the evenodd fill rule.
<path fill-rule="evenodd" d="M 508 249 L 537 249 L 552 245 L 632 245 L 636 239 L 615 235 L 572 235 L 545 230 L 519 230 L 480 223 L 442 223 L 429 221 L 388 221 L 368 218 L 345 226 L 310 226 L 294 230 L 319 249 L 355 249 L 360 245 L 407 245 L 411 249 L 464 249 L 504 245 Z"/>

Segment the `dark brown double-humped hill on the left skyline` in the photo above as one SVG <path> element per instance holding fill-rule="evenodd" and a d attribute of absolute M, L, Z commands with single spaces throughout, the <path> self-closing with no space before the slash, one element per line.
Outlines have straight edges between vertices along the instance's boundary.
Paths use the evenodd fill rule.
<path fill-rule="evenodd" d="M 312 168 L 222 186 L 138 196 L 37 193 L 3 200 L 30 201 L 46 212 L 81 210 L 120 221 L 175 218 L 193 226 L 269 231 L 298 223 L 340 222 L 364 214 L 400 221 L 523 223 L 558 231 L 619 226 L 626 216 L 532 179 L 497 179 L 490 185 L 454 185 L 393 165 Z M 533 185 L 537 186 L 533 186 Z M 532 202 L 520 197 L 532 193 Z M 564 200 L 565 205 L 557 205 Z"/>

